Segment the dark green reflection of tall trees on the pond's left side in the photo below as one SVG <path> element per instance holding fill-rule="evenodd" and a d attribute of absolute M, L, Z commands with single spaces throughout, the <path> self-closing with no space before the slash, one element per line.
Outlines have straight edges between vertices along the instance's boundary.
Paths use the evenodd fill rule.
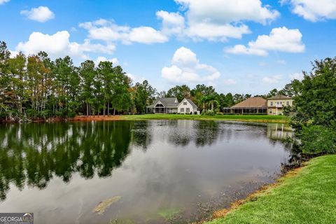
<path fill-rule="evenodd" d="M 20 190 L 45 188 L 52 176 L 67 182 L 73 172 L 90 179 L 110 176 L 129 153 L 132 123 L 6 125 L 0 130 L 0 197 L 10 183 Z"/>

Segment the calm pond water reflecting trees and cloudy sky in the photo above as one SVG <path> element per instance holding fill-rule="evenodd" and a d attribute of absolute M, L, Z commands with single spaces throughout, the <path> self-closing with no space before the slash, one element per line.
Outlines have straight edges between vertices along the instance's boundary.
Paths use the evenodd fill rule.
<path fill-rule="evenodd" d="M 0 211 L 34 212 L 34 223 L 199 221 L 274 181 L 291 135 L 196 120 L 0 125 Z"/>

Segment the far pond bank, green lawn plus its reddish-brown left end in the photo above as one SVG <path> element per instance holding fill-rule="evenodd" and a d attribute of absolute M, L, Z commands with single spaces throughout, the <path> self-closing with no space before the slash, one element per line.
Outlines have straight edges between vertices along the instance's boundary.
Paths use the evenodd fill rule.
<path fill-rule="evenodd" d="M 71 119 L 74 121 L 90 120 L 232 120 L 246 121 L 253 123 L 289 123 L 286 116 L 244 116 L 244 115 L 216 115 L 200 116 L 185 114 L 144 114 L 144 115 L 125 115 L 125 116 L 76 116 Z"/>

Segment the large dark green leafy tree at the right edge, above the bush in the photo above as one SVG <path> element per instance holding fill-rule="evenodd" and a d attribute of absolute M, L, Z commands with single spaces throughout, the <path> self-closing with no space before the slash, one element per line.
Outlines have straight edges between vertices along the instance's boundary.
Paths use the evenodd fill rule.
<path fill-rule="evenodd" d="M 336 57 L 316 60 L 310 73 L 304 72 L 301 83 L 295 84 L 297 123 L 330 127 L 336 122 Z"/>

